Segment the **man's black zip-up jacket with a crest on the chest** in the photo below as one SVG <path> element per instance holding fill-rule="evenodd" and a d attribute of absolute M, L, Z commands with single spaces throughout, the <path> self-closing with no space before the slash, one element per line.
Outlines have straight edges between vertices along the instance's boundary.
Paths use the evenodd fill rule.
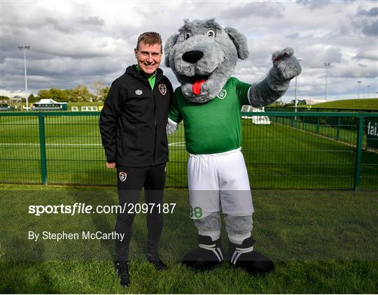
<path fill-rule="evenodd" d="M 99 128 L 106 161 L 118 166 L 144 167 L 168 161 L 166 125 L 171 82 L 156 71 L 155 86 L 129 66 L 111 85 Z"/>

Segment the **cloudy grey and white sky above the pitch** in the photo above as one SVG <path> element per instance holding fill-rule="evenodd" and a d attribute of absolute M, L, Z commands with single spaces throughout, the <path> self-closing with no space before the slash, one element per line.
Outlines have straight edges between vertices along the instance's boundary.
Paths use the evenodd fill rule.
<path fill-rule="evenodd" d="M 265 77 L 270 55 L 290 45 L 302 57 L 298 98 L 324 99 L 324 63 L 328 100 L 378 94 L 377 1 L 6 1 L 1 0 L 0 94 L 25 94 L 27 50 L 29 93 L 111 85 L 134 64 L 137 37 L 158 31 L 163 43 L 183 19 L 215 17 L 248 38 L 250 56 L 239 61 L 235 75 L 245 82 Z M 161 64 L 163 65 L 163 63 Z M 172 84 L 178 82 L 161 66 Z M 370 85 L 370 87 L 368 87 Z M 291 82 L 283 101 L 294 96 Z"/>

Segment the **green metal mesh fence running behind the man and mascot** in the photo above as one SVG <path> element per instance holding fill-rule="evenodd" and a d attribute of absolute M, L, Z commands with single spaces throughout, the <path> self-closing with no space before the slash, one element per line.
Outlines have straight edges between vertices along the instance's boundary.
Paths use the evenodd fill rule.
<path fill-rule="evenodd" d="M 253 189 L 378 189 L 378 113 L 241 115 Z M 98 121 L 99 112 L 0 113 L 0 182 L 116 185 Z M 187 187 L 182 124 L 168 138 L 167 187 Z"/>

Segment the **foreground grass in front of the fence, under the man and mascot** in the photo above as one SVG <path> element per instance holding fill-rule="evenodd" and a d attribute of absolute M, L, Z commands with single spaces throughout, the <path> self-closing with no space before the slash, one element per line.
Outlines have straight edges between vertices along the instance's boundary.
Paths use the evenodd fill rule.
<path fill-rule="evenodd" d="M 32 204 L 116 204 L 116 189 L 1 185 L 1 293 L 268 294 L 376 293 L 377 192 L 253 191 L 255 249 L 276 270 L 253 276 L 224 262 L 195 273 L 179 263 L 196 247 L 188 192 L 169 189 L 160 254 L 165 273 L 146 261 L 146 216 L 138 214 L 130 252 L 132 284 L 123 289 L 113 269 L 113 241 L 28 240 L 28 231 L 113 231 L 112 214 L 28 213 Z M 143 201 L 143 196 L 141 201 Z M 222 231 L 225 253 L 226 233 Z"/>

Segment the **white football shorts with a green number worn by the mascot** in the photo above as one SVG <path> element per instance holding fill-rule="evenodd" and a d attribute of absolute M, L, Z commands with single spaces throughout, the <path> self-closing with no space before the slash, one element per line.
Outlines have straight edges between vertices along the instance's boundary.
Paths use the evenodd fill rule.
<path fill-rule="evenodd" d="M 188 159 L 190 218 L 220 211 L 252 215 L 253 203 L 241 148 L 219 154 L 190 154 Z"/>

